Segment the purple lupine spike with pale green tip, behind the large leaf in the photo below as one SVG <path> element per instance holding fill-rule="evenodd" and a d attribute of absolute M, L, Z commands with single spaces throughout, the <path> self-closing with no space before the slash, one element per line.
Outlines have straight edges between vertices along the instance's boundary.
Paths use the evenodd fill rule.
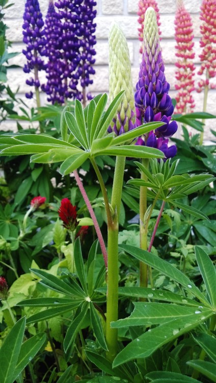
<path fill-rule="evenodd" d="M 144 47 L 135 93 L 137 125 L 161 121 L 165 125 L 155 129 L 145 138 L 138 138 L 137 145 L 147 145 L 164 152 L 166 158 L 175 156 L 176 146 L 168 148 L 168 138 L 177 131 L 177 123 L 170 122 L 174 107 L 168 94 L 170 85 L 164 74 L 156 14 L 148 8 L 144 21 Z"/>

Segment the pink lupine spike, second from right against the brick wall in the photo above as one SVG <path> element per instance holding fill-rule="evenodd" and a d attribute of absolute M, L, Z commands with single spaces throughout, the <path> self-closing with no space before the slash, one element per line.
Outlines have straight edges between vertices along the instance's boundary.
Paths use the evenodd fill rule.
<path fill-rule="evenodd" d="M 175 88 L 178 90 L 176 95 L 177 113 L 191 113 L 195 107 L 192 91 L 195 90 L 194 75 L 195 64 L 193 59 L 195 52 L 193 50 L 193 23 L 190 14 L 186 11 L 183 0 L 177 1 L 175 14 L 175 39 L 176 39 L 176 57 L 177 71 Z"/>

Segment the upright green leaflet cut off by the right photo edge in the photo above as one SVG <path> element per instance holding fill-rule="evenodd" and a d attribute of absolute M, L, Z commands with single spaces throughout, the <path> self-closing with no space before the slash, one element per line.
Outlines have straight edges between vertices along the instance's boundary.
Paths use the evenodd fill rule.
<path fill-rule="evenodd" d="M 216 270 L 208 254 L 201 247 L 195 246 L 195 255 L 210 302 L 216 309 Z"/>

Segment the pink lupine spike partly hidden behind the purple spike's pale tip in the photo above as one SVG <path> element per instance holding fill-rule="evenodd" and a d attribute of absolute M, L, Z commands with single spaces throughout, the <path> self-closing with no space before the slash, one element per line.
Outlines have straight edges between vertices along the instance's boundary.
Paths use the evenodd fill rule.
<path fill-rule="evenodd" d="M 139 10 L 138 10 L 138 16 L 139 16 L 138 22 L 141 25 L 140 28 L 138 28 L 139 40 L 142 41 L 142 44 L 143 44 L 143 28 L 144 28 L 144 19 L 145 19 L 145 13 L 146 13 L 147 8 L 152 7 L 155 10 L 155 12 L 156 12 L 159 35 L 161 34 L 161 32 L 159 30 L 159 26 L 160 26 L 159 19 L 160 19 L 160 16 L 159 16 L 159 9 L 158 9 L 158 6 L 157 6 L 157 2 L 155 2 L 155 0 L 139 0 L 138 7 L 139 7 Z M 141 47 L 140 47 L 140 53 L 143 53 L 143 45 L 141 45 Z"/>

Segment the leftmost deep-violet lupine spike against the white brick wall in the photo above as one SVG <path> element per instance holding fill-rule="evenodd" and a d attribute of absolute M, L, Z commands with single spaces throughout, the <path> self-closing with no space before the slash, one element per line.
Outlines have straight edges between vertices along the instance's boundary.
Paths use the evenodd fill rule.
<path fill-rule="evenodd" d="M 44 55 L 44 30 L 43 30 L 43 18 L 40 12 L 40 6 L 38 0 L 26 0 L 25 10 L 23 14 L 23 42 L 26 44 L 26 48 L 22 51 L 27 59 L 27 64 L 24 65 L 24 73 L 30 73 L 34 71 L 33 77 L 26 80 L 26 84 L 30 86 L 40 87 L 40 81 L 38 78 L 38 71 L 46 68 L 41 56 Z M 33 92 L 25 94 L 25 97 L 31 99 Z"/>

